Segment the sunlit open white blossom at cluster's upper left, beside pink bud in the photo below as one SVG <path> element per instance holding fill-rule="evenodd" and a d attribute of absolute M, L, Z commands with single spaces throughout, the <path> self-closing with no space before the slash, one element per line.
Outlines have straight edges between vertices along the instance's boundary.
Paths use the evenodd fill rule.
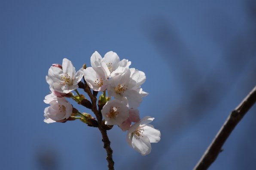
<path fill-rule="evenodd" d="M 62 69 L 51 66 L 48 71 L 48 78 L 46 81 L 50 84 L 52 81 L 52 88 L 60 93 L 69 93 L 78 88 L 78 83 L 82 79 L 83 68 L 76 72 L 72 62 L 68 59 L 63 59 Z M 47 80 L 51 79 L 51 80 Z"/>

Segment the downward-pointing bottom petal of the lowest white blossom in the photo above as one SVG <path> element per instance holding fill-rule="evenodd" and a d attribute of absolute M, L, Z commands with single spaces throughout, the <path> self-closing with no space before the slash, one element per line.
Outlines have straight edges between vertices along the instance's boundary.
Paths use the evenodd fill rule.
<path fill-rule="evenodd" d="M 146 135 L 140 135 L 140 137 L 133 135 L 131 138 L 131 146 L 143 156 L 148 155 L 151 152 L 151 144 Z"/>

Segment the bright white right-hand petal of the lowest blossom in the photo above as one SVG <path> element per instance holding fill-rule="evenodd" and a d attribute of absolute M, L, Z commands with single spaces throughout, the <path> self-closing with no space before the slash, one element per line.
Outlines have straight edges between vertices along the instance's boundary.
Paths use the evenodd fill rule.
<path fill-rule="evenodd" d="M 155 129 L 154 126 L 148 124 L 143 126 L 143 129 L 143 135 L 146 135 L 149 138 L 150 143 L 157 143 L 160 141 L 161 133 L 158 129 Z"/>

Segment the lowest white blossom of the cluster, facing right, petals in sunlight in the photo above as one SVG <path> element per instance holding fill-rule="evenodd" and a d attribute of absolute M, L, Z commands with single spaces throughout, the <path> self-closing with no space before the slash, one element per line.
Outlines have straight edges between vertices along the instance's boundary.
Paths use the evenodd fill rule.
<path fill-rule="evenodd" d="M 134 123 L 128 130 L 128 144 L 143 156 L 151 152 L 150 143 L 157 143 L 160 141 L 160 131 L 155 129 L 151 124 L 148 124 L 153 120 L 153 117 L 146 116 L 139 122 Z"/>

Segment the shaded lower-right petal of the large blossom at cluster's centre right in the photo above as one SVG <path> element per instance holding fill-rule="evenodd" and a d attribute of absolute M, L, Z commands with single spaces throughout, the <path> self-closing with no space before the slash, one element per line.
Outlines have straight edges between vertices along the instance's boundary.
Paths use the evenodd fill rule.
<path fill-rule="evenodd" d="M 134 90 L 126 90 L 123 94 L 128 100 L 128 105 L 130 108 L 137 108 L 140 106 L 142 102 L 142 97 L 137 91 Z"/>

